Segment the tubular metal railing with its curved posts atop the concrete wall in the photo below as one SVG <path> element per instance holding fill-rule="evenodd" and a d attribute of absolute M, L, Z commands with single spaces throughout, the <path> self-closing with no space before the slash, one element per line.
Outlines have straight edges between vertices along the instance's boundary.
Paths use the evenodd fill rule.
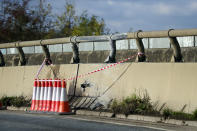
<path fill-rule="evenodd" d="M 35 41 L 23 41 L 23 42 L 17 41 L 12 43 L 0 44 L 0 49 L 17 48 L 20 58 L 19 64 L 25 65 L 26 60 L 22 47 L 42 46 L 45 57 L 50 59 L 50 53 L 46 45 L 72 43 L 72 49 L 73 49 L 72 63 L 79 63 L 80 59 L 78 52 L 78 43 L 110 41 L 111 51 L 105 62 L 113 63 L 115 62 L 115 56 L 116 56 L 116 41 L 124 40 L 124 39 L 135 39 L 138 48 L 138 54 L 139 54 L 136 58 L 136 61 L 144 62 L 146 61 L 146 55 L 145 55 L 144 44 L 142 39 L 168 37 L 170 39 L 170 44 L 172 45 L 174 51 L 172 61 L 182 62 L 181 49 L 176 37 L 183 37 L 183 36 L 197 36 L 197 29 L 183 29 L 183 30 L 169 29 L 164 31 L 148 31 L 148 32 L 143 32 L 142 30 L 139 30 L 133 33 L 122 33 L 122 34 L 103 35 L 103 36 L 79 36 L 79 37 L 73 36 L 66 38 L 35 40 Z M 0 66 L 4 66 L 4 65 L 5 65 L 5 61 L 0 51 Z"/>

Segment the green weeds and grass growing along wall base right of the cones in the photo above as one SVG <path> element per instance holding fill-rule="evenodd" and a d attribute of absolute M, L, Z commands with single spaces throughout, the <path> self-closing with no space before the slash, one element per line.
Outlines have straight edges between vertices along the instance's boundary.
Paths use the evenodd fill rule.
<path fill-rule="evenodd" d="M 114 99 L 110 105 L 110 111 L 116 114 L 140 114 L 151 116 L 162 116 L 164 119 L 178 119 L 178 120 L 197 120 L 197 109 L 192 113 L 185 113 L 183 111 L 174 111 L 170 108 L 164 108 L 161 112 L 156 110 L 147 92 L 142 96 L 132 94 L 129 97 L 118 101 Z"/>

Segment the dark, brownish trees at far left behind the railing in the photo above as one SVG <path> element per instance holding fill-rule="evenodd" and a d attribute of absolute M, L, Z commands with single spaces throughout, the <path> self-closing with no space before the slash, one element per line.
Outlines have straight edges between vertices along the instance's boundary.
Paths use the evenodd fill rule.
<path fill-rule="evenodd" d="M 38 7 L 31 9 L 29 7 L 31 1 L 1 2 L 0 42 L 35 40 L 53 36 L 51 6 L 40 0 Z"/>

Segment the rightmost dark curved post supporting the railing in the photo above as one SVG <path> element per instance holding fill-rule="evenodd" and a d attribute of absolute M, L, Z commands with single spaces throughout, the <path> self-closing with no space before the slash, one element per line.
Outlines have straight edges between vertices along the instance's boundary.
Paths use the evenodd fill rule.
<path fill-rule="evenodd" d="M 171 37 L 170 36 L 170 31 L 173 30 L 173 29 L 170 29 L 168 31 L 168 37 L 170 39 L 170 44 L 173 48 L 173 57 L 172 57 L 172 62 L 183 62 L 182 60 L 182 54 L 181 54 L 181 48 L 180 48 L 180 45 L 179 45 L 179 42 L 177 40 L 176 37 Z"/>

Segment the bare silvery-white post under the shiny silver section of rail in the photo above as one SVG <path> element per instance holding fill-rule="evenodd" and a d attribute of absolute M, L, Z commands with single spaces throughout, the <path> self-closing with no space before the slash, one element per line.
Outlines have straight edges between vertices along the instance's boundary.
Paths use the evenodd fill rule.
<path fill-rule="evenodd" d="M 109 56 L 105 60 L 105 63 L 115 63 L 116 62 L 116 40 L 112 40 L 111 36 L 109 37 L 109 44 L 111 47 L 111 51 L 110 51 Z"/>

